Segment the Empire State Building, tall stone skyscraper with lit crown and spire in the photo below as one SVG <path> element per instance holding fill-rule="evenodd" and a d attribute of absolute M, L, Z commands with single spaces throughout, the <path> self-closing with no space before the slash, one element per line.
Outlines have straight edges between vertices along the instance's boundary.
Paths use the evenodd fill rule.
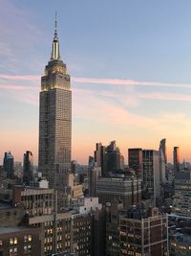
<path fill-rule="evenodd" d="M 71 78 L 60 58 L 55 19 L 52 55 L 41 77 L 38 168 L 57 190 L 71 168 L 71 137 Z"/>

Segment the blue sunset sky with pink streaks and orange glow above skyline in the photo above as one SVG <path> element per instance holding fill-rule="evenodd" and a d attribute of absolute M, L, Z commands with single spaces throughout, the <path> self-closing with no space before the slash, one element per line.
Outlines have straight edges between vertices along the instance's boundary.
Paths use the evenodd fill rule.
<path fill-rule="evenodd" d="M 191 161 L 190 0 L 0 0 L 0 163 L 31 150 L 37 163 L 40 77 L 54 12 L 72 77 L 73 159 L 96 142 L 159 149 Z"/>

